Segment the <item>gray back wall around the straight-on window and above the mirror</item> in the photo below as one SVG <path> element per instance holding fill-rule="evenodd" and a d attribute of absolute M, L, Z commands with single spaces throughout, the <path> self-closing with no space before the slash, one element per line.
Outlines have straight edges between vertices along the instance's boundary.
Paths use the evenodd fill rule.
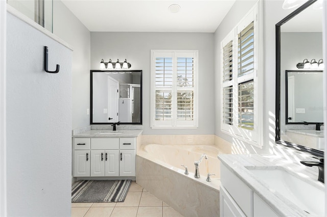
<path fill-rule="evenodd" d="M 214 134 L 214 34 L 213 33 L 132 33 L 91 32 L 91 69 L 99 69 L 101 59 L 121 62 L 143 70 L 143 134 Z M 151 49 L 199 50 L 199 127 L 170 130 L 150 127 Z"/>

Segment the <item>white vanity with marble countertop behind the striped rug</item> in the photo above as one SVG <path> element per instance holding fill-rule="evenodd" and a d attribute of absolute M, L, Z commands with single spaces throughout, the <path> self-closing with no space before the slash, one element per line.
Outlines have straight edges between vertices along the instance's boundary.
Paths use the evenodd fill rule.
<path fill-rule="evenodd" d="M 88 130 L 73 135 L 73 176 L 135 179 L 136 139 L 142 130 Z"/>

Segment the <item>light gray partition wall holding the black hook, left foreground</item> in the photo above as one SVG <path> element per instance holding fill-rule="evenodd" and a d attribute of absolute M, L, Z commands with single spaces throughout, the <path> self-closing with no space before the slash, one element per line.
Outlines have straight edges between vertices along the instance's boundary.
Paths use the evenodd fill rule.
<path fill-rule="evenodd" d="M 7 214 L 70 216 L 72 51 L 7 13 L 6 59 Z"/>

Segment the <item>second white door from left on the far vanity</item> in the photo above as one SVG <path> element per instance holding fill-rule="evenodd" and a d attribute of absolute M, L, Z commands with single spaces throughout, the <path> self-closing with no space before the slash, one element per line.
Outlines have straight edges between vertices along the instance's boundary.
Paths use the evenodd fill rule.
<path fill-rule="evenodd" d="M 104 176 L 104 150 L 91 150 L 91 176 Z"/>

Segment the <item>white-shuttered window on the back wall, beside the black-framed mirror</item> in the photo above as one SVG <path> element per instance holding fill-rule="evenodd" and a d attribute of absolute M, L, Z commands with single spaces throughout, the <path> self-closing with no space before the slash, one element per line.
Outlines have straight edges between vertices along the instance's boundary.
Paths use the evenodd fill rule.
<path fill-rule="evenodd" d="M 151 50 L 151 127 L 197 127 L 197 50 Z"/>

